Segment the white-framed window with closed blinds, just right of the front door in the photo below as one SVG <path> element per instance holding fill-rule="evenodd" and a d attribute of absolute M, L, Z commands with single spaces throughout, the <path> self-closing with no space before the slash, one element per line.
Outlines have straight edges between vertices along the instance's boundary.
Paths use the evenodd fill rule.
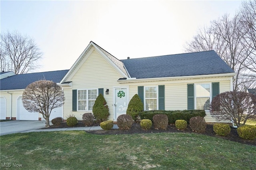
<path fill-rule="evenodd" d="M 145 87 L 145 110 L 157 110 L 157 87 Z"/>

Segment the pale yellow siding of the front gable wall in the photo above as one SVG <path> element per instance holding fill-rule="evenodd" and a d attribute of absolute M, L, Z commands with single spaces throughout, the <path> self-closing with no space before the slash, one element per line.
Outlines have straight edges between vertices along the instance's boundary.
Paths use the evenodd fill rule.
<path fill-rule="evenodd" d="M 113 120 L 113 88 L 119 87 L 117 80 L 122 77 L 108 61 L 104 59 L 95 50 L 88 56 L 82 66 L 76 71 L 70 79 L 72 81 L 72 89 L 64 89 L 65 104 L 64 104 L 64 119 L 70 114 L 75 115 L 78 120 L 82 120 L 82 115 L 85 111 L 72 112 L 72 90 L 73 89 L 109 89 L 109 94 L 105 95 L 108 108 L 109 120 Z"/>

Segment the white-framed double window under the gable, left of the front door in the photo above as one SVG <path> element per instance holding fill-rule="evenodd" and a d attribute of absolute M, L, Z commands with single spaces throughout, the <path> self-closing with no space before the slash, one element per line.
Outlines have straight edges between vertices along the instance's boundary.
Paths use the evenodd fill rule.
<path fill-rule="evenodd" d="M 78 90 L 78 111 L 92 111 L 97 96 L 97 89 Z"/>

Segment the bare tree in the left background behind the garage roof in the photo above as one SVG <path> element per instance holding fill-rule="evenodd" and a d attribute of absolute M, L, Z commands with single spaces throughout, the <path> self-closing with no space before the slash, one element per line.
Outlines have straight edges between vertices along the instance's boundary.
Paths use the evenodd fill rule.
<path fill-rule="evenodd" d="M 42 57 L 42 52 L 37 47 L 34 40 L 28 36 L 22 36 L 19 32 L 6 32 L 0 36 L 1 71 L 8 68 L 16 74 L 27 73 L 38 68 L 38 59 Z M 10 64 L 10 65 L 8 65 Z"/>

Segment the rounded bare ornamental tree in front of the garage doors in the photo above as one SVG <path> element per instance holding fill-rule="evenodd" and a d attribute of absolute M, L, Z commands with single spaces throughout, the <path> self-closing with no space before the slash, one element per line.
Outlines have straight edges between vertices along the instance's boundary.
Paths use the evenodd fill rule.
<path fill-rule="evenodd" d="M 50 126 L 52 109 L 64 104 L 64 92 L 53 81 L 40 80 L 29 84 L 22 94 L 22 103 L 29 112 L 41 113 L 46 120 L 45 127 Z"/>

